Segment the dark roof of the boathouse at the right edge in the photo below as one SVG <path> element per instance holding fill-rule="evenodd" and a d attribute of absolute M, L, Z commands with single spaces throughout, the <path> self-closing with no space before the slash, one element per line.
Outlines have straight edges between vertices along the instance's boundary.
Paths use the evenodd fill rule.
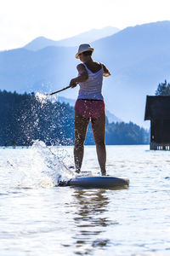
<path fill-rule="evenodd" d="M 170 119 L 170 96 L 147 96 L 144 120 Z"/>

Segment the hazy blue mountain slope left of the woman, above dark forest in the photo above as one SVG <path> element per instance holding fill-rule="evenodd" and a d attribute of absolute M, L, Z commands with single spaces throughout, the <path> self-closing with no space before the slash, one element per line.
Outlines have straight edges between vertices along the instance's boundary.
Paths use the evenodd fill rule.
<path fill-rule="evenodd" d="M 22 93 L 48 92 L 64 87 L 69 83 L 71 73 L 77 74 L 70 64 L 75 51 L 51 46 L 38 51 L 12 49 L 0 52 L 0 89 Z"/>

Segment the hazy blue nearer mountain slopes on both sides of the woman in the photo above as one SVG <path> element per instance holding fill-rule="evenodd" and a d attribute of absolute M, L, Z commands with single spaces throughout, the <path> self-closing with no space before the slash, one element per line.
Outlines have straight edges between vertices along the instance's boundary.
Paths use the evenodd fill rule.
<path fill-rule="evenodd" d="M 170 81 L 170 21 L 127 27 L 92 45 L 94 60 L 104 62 L 111 71 L 111 77 L 104 78 L 106 108 L 124 121 L 147 125 L 146 95 L 154 95 L 165 79 Z M 59 46 L 0 52 L 0 89 L 61 89 L 77 76 L 76 52 L 77 47 Z M 77 90 L 65 90 L 60 95 L 75 99 Z"/>

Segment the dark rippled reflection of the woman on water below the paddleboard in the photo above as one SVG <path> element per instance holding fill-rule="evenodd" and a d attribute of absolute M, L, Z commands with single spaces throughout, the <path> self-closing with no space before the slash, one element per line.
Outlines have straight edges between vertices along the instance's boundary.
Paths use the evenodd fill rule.
<path fill-rule="evenodd" d="M 109 198 L 104 189 L 99 190 L 75 190 L 73 196 L 76 199 L 77 212 L 75 212 L 76 254 L 91 254 L 96 247 L 105 249 L 110 244 L 109 237 L 105 237 L 105 227 L 112 223 L 105 216 L 108 211 Z"/>

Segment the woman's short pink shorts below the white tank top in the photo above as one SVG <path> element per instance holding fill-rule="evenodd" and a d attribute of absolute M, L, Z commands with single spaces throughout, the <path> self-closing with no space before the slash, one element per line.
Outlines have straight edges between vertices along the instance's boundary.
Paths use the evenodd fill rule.
<path fill-rule="evenodd" d="M 105 113 L 105 102 L 97 100 L 77 100 L 75 113 L 81 114 L 85 118 L 99 118 Z"/>

